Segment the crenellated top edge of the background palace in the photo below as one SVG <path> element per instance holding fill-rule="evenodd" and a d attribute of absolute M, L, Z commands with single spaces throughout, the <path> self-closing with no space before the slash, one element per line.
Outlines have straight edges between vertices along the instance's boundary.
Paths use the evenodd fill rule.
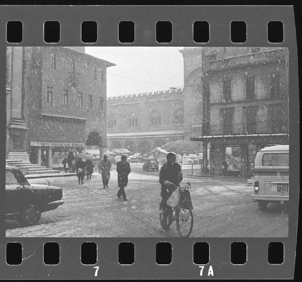
<path fill-rule="evenodd" d="M 144 93 L 135 93 L 129 95 L 121 95 L 114 97 L 107 97 L 107 104 L 116 104 L 116 103 L 131 103 L 131 102 L 140 102 L 142 100 L 160 100 L 160 99 L 173 99 L 173 98 L 182 98 L 183 88 L 169 89 L 156 92 L 144 92 Z"/>

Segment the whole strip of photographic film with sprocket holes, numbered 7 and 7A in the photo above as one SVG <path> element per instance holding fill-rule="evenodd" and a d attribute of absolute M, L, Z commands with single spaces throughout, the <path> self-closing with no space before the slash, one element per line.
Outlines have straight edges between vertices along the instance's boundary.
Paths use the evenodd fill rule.
<path fill-rule="evenodd" d="M 0 15 L 6 85 L 1 154 L 7 160 L 6 175 L 1 170 L 2 279 L 293 277 L 299 109 L 292 7 L 4 6 Z M 111 59 L 104 47 L 115 48 Z M 102 51 L 96 55 L 93 48 Z M 138 59 L 125 51 L 131 48 Z M 174 71 L 172 51 L 165 48 L 183 59 L 182 80 L 173 85 L 153 79 L 169 79 L 169 70 L 161 72 L 167 57 Z M 108 93 L 103 69 L 118 65 L 115 58 L 123 52 L 128 72 L 110 72 L 121 79 L 110 86 L 125 83 L 126 88 L 130 81 L 135 87 L 153 85 L 156 93 Z M 131 74 L 134 68 L 150 71 L 150 58 L 159 64 L 152 68 L 154 77 L 149 74 L 146 81 Z M 109 71 L 109 83 L 108 76 Z M 121 127 L 119 117 L 125 121 Z M 162 137 L 199 142 L 199 166 L 193 164 L 199 153 L 161 151 L 165 143 L 156 140 Z M 128 185 L 120 160 L 127 151 L 118 151 L 121 146 L 136 146 L 127 150 L 136 151 L 128 154 Z M 143 159 L 156 148 L 152 158 Z M 111 159 L 108 188 L 99 162 L 109 150 L 118 158 Z M 64 168 L 62 152 L 71 153 Z M 72 168 L 72 156 L 98 159 L 84 184 L 81 173 L 90 165 L 81 167 L 79 161 Z M 178 168 L 175 162 L 182 164 L 182 176 L 171 169 L 174 181 L 165 173 L 171 165 Z M 153 174 L 145 172 L 152 168 Z M 161 187 L 181 178 L 181 189 L 168 189 L 169 197 L 176 194 L 174 212 L 160 210 Z M 193 209 L 184 196 L 187 182 Z M 116 198 L 117 186 L 125 201 Z M 182 231 L 184 223 L 188 231 Z"/>

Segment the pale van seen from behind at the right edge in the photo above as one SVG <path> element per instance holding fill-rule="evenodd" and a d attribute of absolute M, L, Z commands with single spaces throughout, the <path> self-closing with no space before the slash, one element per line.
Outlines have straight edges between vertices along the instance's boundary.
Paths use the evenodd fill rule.
<path fill-rule="evenodd" d="M 265 210 L 269 202 L 289 200 L 289 146 L 265 147 L 255 158 L 254 194 L 259 209 Z"/>

